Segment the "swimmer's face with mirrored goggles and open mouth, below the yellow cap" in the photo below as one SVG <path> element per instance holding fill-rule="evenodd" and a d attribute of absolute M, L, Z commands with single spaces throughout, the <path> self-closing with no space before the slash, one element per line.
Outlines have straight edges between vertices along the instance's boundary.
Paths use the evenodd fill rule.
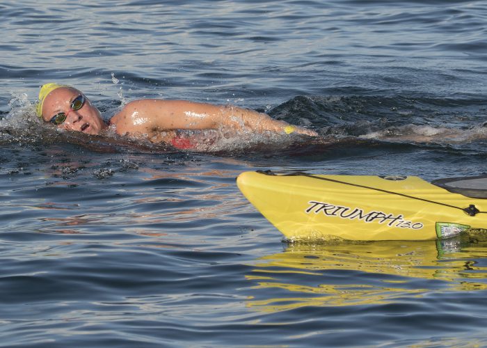
<path fill-rule="evenodd" d="M 53 122 L 59 128 L 95 135 L 106 127 L 98 109 L 72 87 L 56 88 L 47 95 L 42 105 L 42 120 Z"/>

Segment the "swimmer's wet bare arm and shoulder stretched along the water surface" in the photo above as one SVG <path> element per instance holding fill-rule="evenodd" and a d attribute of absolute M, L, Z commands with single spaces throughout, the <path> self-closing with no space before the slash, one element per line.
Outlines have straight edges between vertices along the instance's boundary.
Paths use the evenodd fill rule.
<path fill-rule="evenodd" d="M 173 129 L 250 129 L 254 132 L 296 132 L 316 135 L 310 129 L 274 120 L 265 113 L 236 106 L 218 106 L 184 100 L 136 100 L 113 116 L 111 123 L 119 134 Z"/>

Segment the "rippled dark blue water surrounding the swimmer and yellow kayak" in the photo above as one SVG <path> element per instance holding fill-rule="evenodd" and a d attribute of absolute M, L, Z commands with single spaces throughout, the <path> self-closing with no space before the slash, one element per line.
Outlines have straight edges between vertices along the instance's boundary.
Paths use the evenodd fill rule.
<path fill-rule="evenodd" d="M 485 1 L 2 1 L 2 347 L 481 347 L 485 232 L 286 244 L 235 177 L 479 175 Z M 316 129 L 197 152 L 58 132 L 49 81 Z"/>

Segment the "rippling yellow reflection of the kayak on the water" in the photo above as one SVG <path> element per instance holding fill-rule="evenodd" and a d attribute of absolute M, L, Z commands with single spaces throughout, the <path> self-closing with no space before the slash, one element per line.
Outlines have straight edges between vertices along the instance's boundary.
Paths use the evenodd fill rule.
<path fill-rule="evenodd" d="M 289 244 L 283 253 L 260 258 L 246 276 L 255 283 L 247 305 L 276 312 L 390 303 L 431 290 L 487 290 L 485 267 L 474 262 L 487 257 L 486 242 L 470 244 L 456 237 L 354 243 Z"/>

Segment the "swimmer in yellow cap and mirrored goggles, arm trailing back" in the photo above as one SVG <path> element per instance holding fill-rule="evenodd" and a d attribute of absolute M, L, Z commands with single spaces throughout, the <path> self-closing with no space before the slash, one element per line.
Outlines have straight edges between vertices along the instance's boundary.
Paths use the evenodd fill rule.
<path fill-rule="evenodd" d="M 311 129 L 274 120 L 266 113 L 186 100 L 135 100 L 107 123 L 80 90 L 54 83 L 40 88 L 36 111 L 45 122 L 68 131 L 98 135 L 113 127 L 120 136 L 173 145 L 178 129 L 225 129 L 233 132 L 248 129 L 257 133 L 317 136 Z"/>

